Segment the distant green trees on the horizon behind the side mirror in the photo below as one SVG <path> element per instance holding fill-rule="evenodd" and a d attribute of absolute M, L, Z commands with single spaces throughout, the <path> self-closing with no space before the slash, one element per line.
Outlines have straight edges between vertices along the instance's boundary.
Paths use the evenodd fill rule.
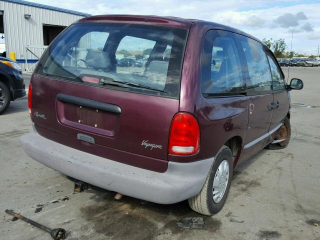
<path fill-rule="evenodd" d="M 284 39 L 280 38 L 278 40 L 273 40 L 272 38 L 263 38 L 263 43 L 269 47 L 276 58 L 291 58 L 293 56 L 302 57 L 306 56 L 304 54 L 300 54 L 294 51 L 286 51 L 287 45 Z M 310 58 L 316 58 L 315 55 L 309 55 Z M 320 56 L 319 56 L 320 57 Z"/>

